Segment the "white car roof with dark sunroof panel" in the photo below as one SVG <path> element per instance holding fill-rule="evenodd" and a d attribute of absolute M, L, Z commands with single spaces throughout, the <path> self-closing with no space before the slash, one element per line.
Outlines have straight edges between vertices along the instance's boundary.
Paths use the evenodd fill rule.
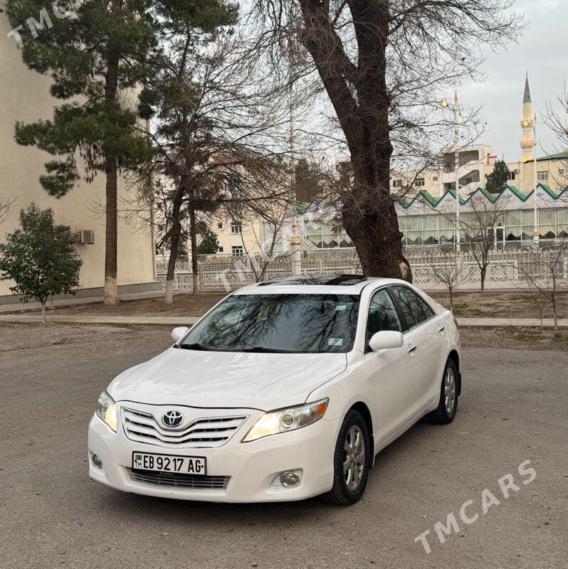
<path fill-rule="evenodd" d="M 396 285 L 403 280 L 364 275 L 298 275 L 248 285 L 233 294 L 361 294 L 367 285 Z M 373 287 L 375 288 L 375 287 Z"/>

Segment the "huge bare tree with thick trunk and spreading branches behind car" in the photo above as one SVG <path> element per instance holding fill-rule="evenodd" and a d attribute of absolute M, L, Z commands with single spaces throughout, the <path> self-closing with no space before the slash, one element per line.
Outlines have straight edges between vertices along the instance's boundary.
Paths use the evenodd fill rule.
<path fill-rule="evenodd" d="M 480 78 L 483 47 L 515 39 L 512 0 L 255 0 L 265 23 L 259 45 L 286 53 L 285 78 L 316 74 L 352 163 L 342 218 L 368 275 L 411 280 L 402 252 L 391 169 L 419 170 L 451 146 L 453 124 L 439 102 L 462 78 Z M 267 28 L 269 28 L 267 30 Z M 310 75 L 311 74 L 311 75 Z M 338 137 L 340 139 L 340 137 Z M 399 168 L 399 166 L 404 167 Z"/>

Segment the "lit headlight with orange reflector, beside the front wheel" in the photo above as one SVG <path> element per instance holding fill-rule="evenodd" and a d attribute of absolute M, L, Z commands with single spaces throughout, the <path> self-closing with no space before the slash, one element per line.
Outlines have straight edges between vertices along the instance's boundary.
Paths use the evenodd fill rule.
<path fill-rule="evenodd" d="M 304 403 L 297 407 L 265 413 L 251 427 L 241 442 L 251 442 L 269 435 L 276 435 L 278 432 L 293 431 L 311 425 L 312 422 L 323 417 L 327 403 L 329 403 L 329 399 L 326 398 L 315 401 L 315 403 Z"/>

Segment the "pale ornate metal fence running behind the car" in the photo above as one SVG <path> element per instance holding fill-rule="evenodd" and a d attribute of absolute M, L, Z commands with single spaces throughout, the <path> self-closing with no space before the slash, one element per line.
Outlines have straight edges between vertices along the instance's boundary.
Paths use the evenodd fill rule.
<path fill-rule="evenodd" d="M 443 283 L 436 278 L 434 267 L 456 263 L 456 252 L 441 250 L 413 249 L 406 250 L 414 283 L 425 289 L 443 288 Z M 475 289 L 480 286 L 481 275 L 478 262 L 471 252 L 459 254 L 460 270 L 463 272 L 463 289 Z M 568 251 L 559 255 L 558 250 L 532 251 L 493 251 L 489 254 L 489 264 L 485 276 L 488 288 L 519 287 L 527 280 L 527 275 L 536 280 L 549 278 L 550 265 L 558 258 L 557 278 L 568 285 Z M 229 291 L 254 282 L 287 275 L 325 275 L 334 273 L 361 274 L 361 264 L 354 249 L 340 251 L 309 251 L 300 254 L 298 267 L 294 267 L 290 255 L 265 260 L 261 256 L 204 255 L 199 257 L 199 287 L 204 291 Z M 165 287 L 167 263 L 157 262 L 157 277 Z M 191 262 L 180 258 L 176 265 L 174 290 L 191 290 L 193 277 Z"/>

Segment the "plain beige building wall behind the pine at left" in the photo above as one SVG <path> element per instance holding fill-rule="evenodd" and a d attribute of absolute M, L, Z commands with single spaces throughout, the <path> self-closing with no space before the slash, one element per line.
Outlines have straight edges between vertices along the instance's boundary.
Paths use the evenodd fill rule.
<path fill-rule="evenodd" d="M 0 77 L 2 112 L 0 113 L 0 194 L 14 201 L 10 216 L 0 224 L 0 240 L 19 227 L 19 211 L 32 201 L 41 208 L 52 208 L 56 223 L 69 225 L 73 231 L 93 230 L 94 243 L 79 244 L 83 259 L 80 272 L 82 296 L 102 294 L 105 282 L 105 218 L 96 211 L 96 203 L 105 203 L 105 176 L 93 184 L 80 182 L 67 196 L 56 199 L 40 186 L 38 178 L 50 156 L 14 141 L 16 121 L 33 122 L 53 114 L 61 102 L 49 95 L 49 78 L 28 70 L 14 38 L 6 14 L 0 14 Z M 125 196 L 121 185 L 120 196 Z M 120 201 L 119 196 L 119 201 Z M 126 207 L 126 206 L 125 206 Z M 120 208 L 120 203 L 119 203 Z M 118 287 L 120 292 L 159 289 L 155 279 L 154 250 L 149 228 L 120 219 L 118 226 Z M 8 281 L 0 281 L 0 303 L 14 302 Z"/>

